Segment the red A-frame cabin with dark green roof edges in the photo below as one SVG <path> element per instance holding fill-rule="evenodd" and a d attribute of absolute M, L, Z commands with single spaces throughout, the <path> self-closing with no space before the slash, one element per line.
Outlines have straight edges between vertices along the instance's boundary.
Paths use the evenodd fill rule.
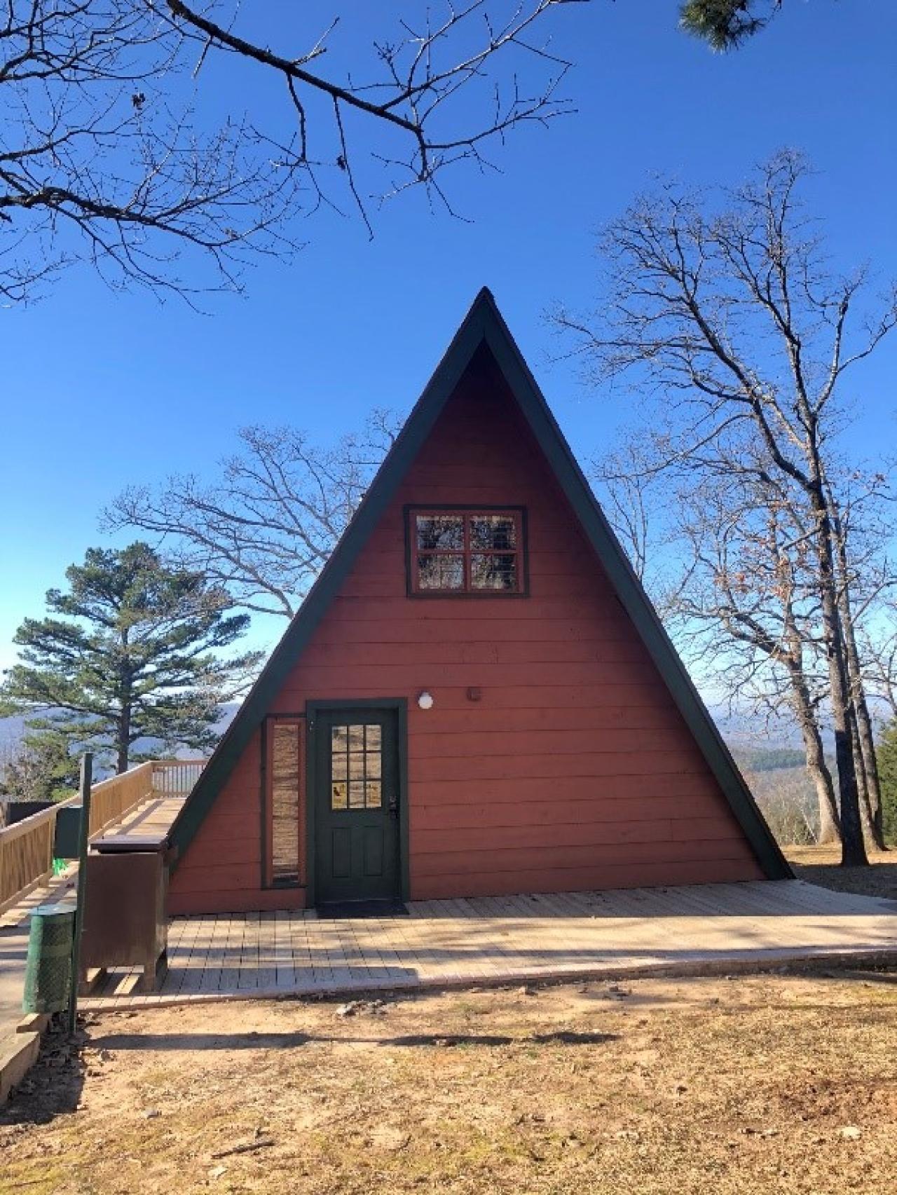
<path fill-rule="evenodd" d="M 176 913 L 791 875 L 487 290 L 171 845 Z"/>

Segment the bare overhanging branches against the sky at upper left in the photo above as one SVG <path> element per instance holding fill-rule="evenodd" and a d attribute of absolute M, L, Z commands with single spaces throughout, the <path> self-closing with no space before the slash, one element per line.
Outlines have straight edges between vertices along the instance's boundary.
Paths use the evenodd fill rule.
<path fill-rule="evenodd" d="M 346 61 L 339 13 L 300 16 L 272 49 L 236 0 L 6 0 L 0 296 L 84 259 L 113 286 L 235 286 L 247 255 L 297 247 L 291 216 L 340 195 L 369 228 L 370 201 L 411 186 L 448 207 L 450 167 L 572 110 L 546 27 L 564 2 L 446 0 L 385 18 L 368 61 Z M 266 76 L 283 105 L 263 118 Z M 189 251 L 213 263 L 204 282 L 178 269 Z"/>

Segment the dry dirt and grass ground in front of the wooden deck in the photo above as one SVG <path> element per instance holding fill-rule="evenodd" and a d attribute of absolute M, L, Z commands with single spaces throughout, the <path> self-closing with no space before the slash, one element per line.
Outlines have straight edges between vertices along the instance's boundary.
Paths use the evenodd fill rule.
<path fill-rule="evenodd" d="M 0 1113 L 0 1191 L 893 1191 L 897 975 L 109 1013 Z"/>

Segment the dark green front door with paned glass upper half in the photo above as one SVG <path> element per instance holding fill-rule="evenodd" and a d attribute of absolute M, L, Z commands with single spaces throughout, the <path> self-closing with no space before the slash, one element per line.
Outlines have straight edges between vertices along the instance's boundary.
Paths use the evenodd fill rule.
<path fill-rule="evenodd" d="M 397 711 L 319 710 L 315 750 L 317 903 L 397 900 Z"/>

